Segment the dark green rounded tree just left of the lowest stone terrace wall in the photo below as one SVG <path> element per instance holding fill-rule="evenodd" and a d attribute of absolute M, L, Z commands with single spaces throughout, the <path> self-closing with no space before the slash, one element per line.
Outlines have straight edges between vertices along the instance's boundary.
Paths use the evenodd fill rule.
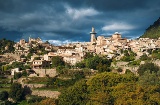
<path fill-rule="evenodd" d="M 21 101 L 22 99 L 24 99 L 22 85 L 19 83 L 13 83 L 10 87 L 9 96 L 14 101 Z"/>

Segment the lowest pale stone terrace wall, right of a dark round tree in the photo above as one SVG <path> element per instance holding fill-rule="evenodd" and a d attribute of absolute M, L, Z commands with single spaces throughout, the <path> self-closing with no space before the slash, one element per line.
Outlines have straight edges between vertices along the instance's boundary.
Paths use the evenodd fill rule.
<path fill-rule="evenodd" d="M 58 98 L 60 92 L 58 91 L 50 91 L 50 90 L 32 90 L 31 95 L 37 95 L 48 98 Z"/>

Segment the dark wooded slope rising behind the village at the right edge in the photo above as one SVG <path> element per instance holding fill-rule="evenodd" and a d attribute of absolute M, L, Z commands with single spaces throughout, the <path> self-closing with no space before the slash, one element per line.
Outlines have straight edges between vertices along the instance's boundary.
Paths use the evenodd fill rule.
<path fill-rule="evenodd" d="M 150 25 L 140 38 L 157 39 L 160 37 L 160 17 L 157 21 Z"/>

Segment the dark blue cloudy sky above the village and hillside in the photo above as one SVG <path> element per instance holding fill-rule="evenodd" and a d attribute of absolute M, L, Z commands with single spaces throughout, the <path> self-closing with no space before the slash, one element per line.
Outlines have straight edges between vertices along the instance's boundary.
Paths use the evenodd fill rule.
<path fill-rule="evenodd" d="M 160 0 L 0 0 L 0 38 L 89 41 L 119 32 L 136 38 L 160 17 Z"/>

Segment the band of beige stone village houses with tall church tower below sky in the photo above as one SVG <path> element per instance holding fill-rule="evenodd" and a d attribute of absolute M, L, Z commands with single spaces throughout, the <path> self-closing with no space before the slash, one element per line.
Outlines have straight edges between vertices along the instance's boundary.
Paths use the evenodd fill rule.
<path fill-rule="evenodd" d="M 56 50 L 54 51 L 53 48 L 55 48 L 55 46 L 44 43 L 40 38 L 34 39 L 29 37 L 28 42 L 21 39 L 14 45 L 15 54 L 27 56 L 30 53 L 31 48 L 42 46 L 47 53 L 43 55 L 33 53 L 30 61 L 28 61 L 31 62 L 33 69 L 42 69 L 50 67 L 52 57 L 54 56 L 61 56 L 65 62 L 74 65 L 77 62 L 82 61 L 87 52 L 106 55 L 108 59 L 111 59 L 115 54 L 119 53 L 121 49 L 131 49 L 137 56 L 141 56 L 144 53 L 147 54 L 148 49 L 160 48 L 160 39 L 139 38 L 130 40 L 122 38 L 121 34 L 118 32 L 115 32 L 111 37 L 96 37 L 96 34 L 95 29 L 92 27 L 90 42 L 70 43 L 56 46 Z M 23 58 L 21 60 L 25 61 Z"/>

